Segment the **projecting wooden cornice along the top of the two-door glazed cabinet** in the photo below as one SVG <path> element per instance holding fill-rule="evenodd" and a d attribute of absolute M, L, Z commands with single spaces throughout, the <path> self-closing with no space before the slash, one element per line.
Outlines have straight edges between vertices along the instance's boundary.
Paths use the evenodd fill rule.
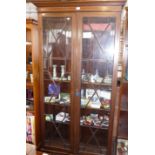
<path fill-rule="evenodd" d="M 92 5 L 119 5 L 123 6 L 127 0 L 26 0 L 37 7 L 53 6 L 92 6 Z"/>

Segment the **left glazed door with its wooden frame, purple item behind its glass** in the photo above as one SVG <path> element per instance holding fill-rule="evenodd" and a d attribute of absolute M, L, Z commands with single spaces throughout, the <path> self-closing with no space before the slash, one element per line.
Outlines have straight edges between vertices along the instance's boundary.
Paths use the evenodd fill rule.
<path fill-rule="evenodd" d="M 43 147 L 73 146 L 73 14 L 41 14 L 41 133 Z"/>

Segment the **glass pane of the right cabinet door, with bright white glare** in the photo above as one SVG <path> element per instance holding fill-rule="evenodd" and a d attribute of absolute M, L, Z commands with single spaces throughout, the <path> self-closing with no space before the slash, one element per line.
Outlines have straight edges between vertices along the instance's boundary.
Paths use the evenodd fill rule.
<path fill-rule="evenodd" d="M 84 17 L 81 68 L 80 150 L 107 153 L 115 18 Z"/>

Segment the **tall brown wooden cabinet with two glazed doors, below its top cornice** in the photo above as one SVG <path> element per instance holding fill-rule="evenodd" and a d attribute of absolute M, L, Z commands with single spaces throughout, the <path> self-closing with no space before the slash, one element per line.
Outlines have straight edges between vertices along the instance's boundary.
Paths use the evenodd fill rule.
<path fill-rule="evenodd" d="M 38 9 L 38 150 L 111 155 L 121 6 L 70 5 Z"/>

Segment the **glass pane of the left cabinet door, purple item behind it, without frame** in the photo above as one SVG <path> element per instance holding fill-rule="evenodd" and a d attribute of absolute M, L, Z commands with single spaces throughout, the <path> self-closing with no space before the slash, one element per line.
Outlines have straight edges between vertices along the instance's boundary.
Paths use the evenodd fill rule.
<path fill-rule="evenodd" d="M 43 19 L 45 144 L 70 147 L 70 17 Z"/>

